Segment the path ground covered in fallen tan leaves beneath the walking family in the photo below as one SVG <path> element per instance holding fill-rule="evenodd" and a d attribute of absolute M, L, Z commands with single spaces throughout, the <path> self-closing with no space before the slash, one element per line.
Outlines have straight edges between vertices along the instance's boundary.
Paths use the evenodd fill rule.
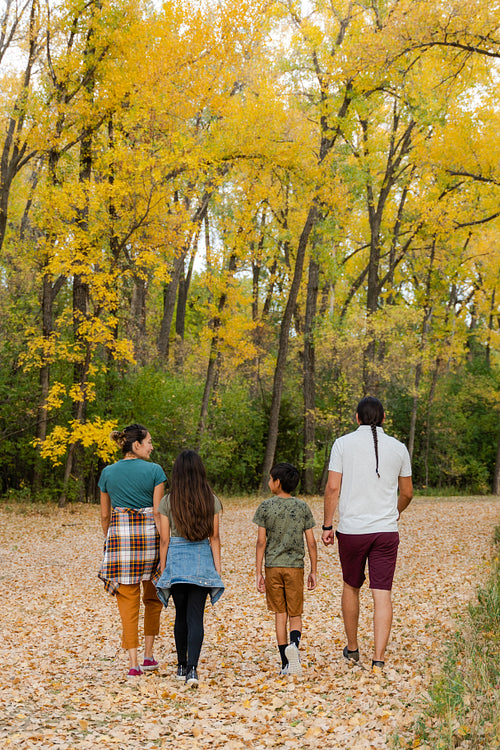
<path fill-rule="evenodd" d="M 306 593 L 301 677 L 278 676 L 272 616 L 254 585 L 257 501 L 228 501 L 226 592 L 206 613 L 200 687 L 175 675 L 173 607 L 162 615 L 159 672 L 125 678 L 115 601 L 96 577 L 99 510 L 0 510 L 0 746 L 5 748 L 384 748 L 411 726 L 443 641 L 486 575 L 500 499 L 416 500 L 404 513 L 395 619 L 384 675 L 344 663 L 337 549 L 318 545 Z M 311 502 L 318 522 L 319 498 Z M 371 597 L 360 648 L 371 659 Z"/>

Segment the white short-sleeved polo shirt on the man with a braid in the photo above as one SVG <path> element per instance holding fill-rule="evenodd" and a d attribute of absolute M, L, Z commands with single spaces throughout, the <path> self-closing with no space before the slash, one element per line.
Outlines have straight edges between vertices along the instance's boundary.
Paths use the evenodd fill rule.
<path fill-rule="evenodd" d="M 378 471 L 369 425 L 338 438 L 330 454 L 330 471 L 342 474 L 338 531 L 375 534 L 398 530 L 398 478 L 411 476 L 406 446 L 377 427 Z"/>

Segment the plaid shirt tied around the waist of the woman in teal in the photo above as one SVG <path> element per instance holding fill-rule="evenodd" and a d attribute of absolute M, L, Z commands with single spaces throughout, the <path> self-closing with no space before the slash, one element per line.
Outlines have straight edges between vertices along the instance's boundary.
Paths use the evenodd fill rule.
<path fill-rule="evenodd" d="M 120 583 L 156 581 L 160 577 L 160 537 L 153 508 L 113 508 L 98 577 L 116 594 Z"/>

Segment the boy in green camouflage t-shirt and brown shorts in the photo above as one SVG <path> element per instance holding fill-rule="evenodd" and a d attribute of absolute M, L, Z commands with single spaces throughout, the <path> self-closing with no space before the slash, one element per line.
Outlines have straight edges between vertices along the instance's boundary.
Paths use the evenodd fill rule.
<path fill-rule="evenodd" d="M 311 509 L 291 493 L 299 482 L 292 464 L 273 466 L 269 489 L 273 497 L 257 508 L 253 522 L 257 533 L 257 591 L 266 593 L 267 608 L 275 613 L 276 638 L 281 656 L 280 674 L 300 674 L 299 644 L 302 635 L 304 605 L 304 535 L 311 561 L 307 588 L 316 588 L 317 550 Z M 265 577 L 262 563 L 265 556 Z M 290 625 L 288 644 L 287 624 Z"/>

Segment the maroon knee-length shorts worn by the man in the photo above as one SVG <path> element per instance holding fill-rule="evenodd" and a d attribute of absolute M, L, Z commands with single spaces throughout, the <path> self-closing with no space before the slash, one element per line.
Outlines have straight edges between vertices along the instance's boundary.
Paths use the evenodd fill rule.
<path fill-rule="evenodd" d="M 378 534 L 340 534 L 337 531 L 337 539 L 345 583 L 360 589 L 365 580 L 368 560 L 370 588 L 383 591 L 392 589 L 399 546 L 397 531 Z"/>

